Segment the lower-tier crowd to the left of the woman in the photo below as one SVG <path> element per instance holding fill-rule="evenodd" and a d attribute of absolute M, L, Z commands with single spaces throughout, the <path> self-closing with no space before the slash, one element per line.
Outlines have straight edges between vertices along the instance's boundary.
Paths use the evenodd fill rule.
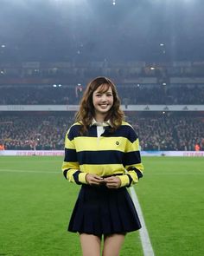
<path fill-rule="evenodd" d="M 69 115 L 3 116 L 0 117 L 0 141 L 5 149 L 62 149 L 71 119 Z"/>

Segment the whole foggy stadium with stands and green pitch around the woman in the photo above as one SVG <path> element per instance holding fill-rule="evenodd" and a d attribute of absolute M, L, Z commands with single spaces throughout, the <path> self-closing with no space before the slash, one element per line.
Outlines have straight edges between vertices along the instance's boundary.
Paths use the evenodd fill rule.
<path fill-rule="evenodd" d="M 112 79 L 137 131 L 142 221 L 121 256 L 204 254 L 204 3 L 0 1 L 0 256 L 80 256 L 61 173 L 86 85 Z"/>

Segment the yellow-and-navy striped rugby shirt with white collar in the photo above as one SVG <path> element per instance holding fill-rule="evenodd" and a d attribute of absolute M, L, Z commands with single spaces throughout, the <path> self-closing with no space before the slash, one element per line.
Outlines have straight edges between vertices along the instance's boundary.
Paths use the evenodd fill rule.
<path fill-rule="evenodd" d="M 128 122 L 113 133 L 109 122 L 93 121 L 86 135 L 80 135 L 80 126 L 74 123 L 65 139 L 62 171 L 68 181 L 86 184 L 86 174 L 98 174 L 118 175 L 121 187 L 138 182 L 143 164 L 137 134 Z"/>

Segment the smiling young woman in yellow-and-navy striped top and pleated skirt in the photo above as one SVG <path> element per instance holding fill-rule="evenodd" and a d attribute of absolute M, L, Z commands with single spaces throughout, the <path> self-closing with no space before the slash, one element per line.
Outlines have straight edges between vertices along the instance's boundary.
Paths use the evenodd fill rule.
<path fill-rule="evenodd" d="M 139 142 L 124 121 L 113 82 L 97 77 L 67 131 L 65 178 L 81 185 L 68 231 L 80 233 L 84 256 L 118 256 L 126 233 L 141 227 L 126 187 L 143 176 Z"/>

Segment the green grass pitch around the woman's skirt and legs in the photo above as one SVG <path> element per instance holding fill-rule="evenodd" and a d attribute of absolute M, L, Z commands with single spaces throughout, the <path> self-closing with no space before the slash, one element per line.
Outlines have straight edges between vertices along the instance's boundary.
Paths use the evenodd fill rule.
<path fill-rule="evenodd" d="M 61 157 L 0 157 L 0 256 L 80 256 L 67 224 L 79 186 Z M 143 157 L 135 187 L 156 256 L 204 255 L 204 158 Z M 122 256 L 142 256 L 138 232 Z"/>

